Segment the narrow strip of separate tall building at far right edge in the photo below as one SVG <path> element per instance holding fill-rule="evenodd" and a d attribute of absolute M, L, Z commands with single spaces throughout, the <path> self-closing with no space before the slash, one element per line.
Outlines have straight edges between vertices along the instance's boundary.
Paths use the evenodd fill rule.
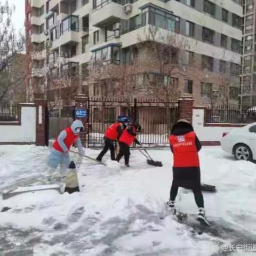
<path fill-rule="evenodd" d="M 255 65 L 255 1 L 243 0 L 243 39 L 242 39 L 242 79 L 241 102 L 256 104 L 256 65 Z"/>

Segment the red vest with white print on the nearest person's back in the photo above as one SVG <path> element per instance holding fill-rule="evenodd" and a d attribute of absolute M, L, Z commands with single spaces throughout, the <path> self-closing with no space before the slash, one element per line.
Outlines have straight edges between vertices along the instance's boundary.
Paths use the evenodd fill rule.
<path fill-rule="evenodd" d="M 173 149 L 173 167 L 199 167 L 196 149 L 196 134 L 171 135 L 169 142 Z"/>

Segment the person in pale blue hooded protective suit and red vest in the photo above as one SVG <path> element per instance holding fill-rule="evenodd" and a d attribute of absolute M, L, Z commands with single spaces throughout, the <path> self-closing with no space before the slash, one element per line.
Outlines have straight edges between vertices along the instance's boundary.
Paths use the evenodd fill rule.
<path fill-rule="evenodd" d="M 84 149 L 82 146 L 79 135 L 83 132 L 84 126 L 80 120 L 75 120 L 71 126 L 63 130 L 57 139 L 53 142 L 53 148 L 51 150 L 48 166 L 50 167 L 49 175 L 52 176 L 55 169 L 60 165 L 60 175 L 64 177 L 70 164 L 69 149 L 73 144 L 78 148 L 80 156 L 84 155 Z M 57 178 L 59 175 L 57 175 Z"/>

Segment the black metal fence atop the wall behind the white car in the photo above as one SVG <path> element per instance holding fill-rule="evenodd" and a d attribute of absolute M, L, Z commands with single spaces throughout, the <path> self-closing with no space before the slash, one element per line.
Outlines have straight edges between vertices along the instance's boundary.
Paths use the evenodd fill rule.
<path fill-rule="evenodd" d="M 206 123 L 249 124 L 256 122 L 256 106 L 214 105 L 206 110 Z"/>

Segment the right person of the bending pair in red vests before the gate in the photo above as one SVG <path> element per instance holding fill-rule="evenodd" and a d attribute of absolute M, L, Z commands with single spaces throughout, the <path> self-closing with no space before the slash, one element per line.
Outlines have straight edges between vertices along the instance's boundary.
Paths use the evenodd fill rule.
<path fill-rule="evenodd" d="M 130 158 L 130 146 L 133 142 L 141 146 L 141 143 L 136 139 L 137 125 L 129 123 L 128 127 L 124 130 L 121 137 L 119 138 L 120 151 L 116 157 L 116 161 L 119 162 L 120 159 L 124 156 L 125 166 L 130 167 L 129 158 Z"/>

